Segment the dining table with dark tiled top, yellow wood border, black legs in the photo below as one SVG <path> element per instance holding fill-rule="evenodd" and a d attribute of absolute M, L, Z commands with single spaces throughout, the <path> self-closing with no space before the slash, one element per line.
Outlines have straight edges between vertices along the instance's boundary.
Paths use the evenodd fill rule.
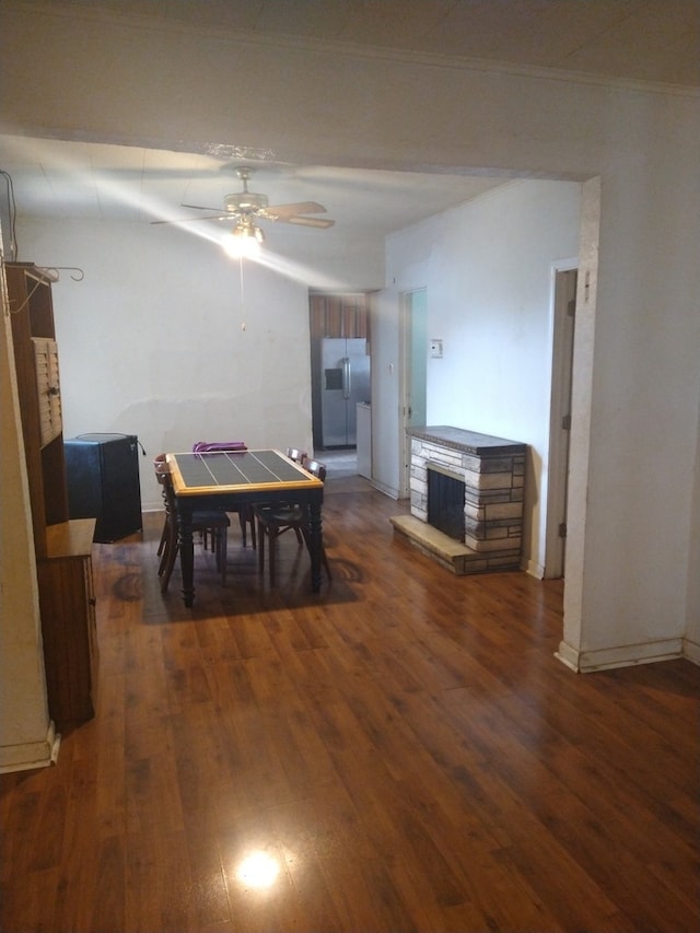
<path fill-rule="evenodd" d="M 281 451 L 228 451 L 166 454 L 177 502 L 183 599 L 195 602 L 192 512 L 242 505 L 279 505 L 299 502 L 308 508 L 308 550 L 312 591 L 320 590 L 323 529 L 320 510 L 324 483 Z"/>

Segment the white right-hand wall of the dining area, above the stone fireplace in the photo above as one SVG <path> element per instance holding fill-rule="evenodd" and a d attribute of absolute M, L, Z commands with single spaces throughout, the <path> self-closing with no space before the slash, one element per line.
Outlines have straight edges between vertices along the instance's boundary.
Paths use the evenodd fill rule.
<path fill-rule="evenodd" d="M 425 285 L 428 337 L 443 340 L 443 358 L 428 359 L 428 423 L 529 447 L 523 559 L 537 575 L 545 567 L 552 267 L 578 255 L 580 190 L 573 182 L 514 182 L 387 238 L 392 289 Z M 374 372 L 389 380 L 386 364 Z M 377 419 L 390 418 L 377 409 Z M 397 489 L 398 471 L 385 481 Z"/>

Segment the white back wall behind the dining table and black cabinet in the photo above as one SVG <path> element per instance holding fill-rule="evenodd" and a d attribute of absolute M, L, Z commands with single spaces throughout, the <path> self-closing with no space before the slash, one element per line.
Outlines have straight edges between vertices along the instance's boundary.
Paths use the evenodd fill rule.
<path fill-rule="evenodd" d="M 137 434 L 144 509 L 162 508 L 162 451 L 312 448 L 305 282 L 254 263 L 242 282 L 218 245 L 175 228 L 24 220 L 18 233 L 38 265 L 84 270 L 54 287 L 63 433 Z"/>

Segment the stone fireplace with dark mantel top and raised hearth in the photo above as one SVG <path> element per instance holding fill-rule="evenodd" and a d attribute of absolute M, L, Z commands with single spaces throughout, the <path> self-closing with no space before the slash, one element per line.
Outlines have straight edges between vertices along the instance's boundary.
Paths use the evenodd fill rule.
<path fill-rule="evenodd" d="M 408 433 L 411 514 L 395 530 L 457 574 L 518 568 L 526 445 L 445 425 Z"/>

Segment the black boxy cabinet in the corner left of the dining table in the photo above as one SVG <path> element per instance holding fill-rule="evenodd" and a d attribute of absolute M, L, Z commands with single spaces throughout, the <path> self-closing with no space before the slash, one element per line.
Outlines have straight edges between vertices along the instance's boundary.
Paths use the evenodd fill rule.
<path fill-rule="evenodd" d="M 139 440 L 133 434 L 80 434 L 65 442 L 71 518 L 96 518 L 95 541 L 140 532 Z"/>

